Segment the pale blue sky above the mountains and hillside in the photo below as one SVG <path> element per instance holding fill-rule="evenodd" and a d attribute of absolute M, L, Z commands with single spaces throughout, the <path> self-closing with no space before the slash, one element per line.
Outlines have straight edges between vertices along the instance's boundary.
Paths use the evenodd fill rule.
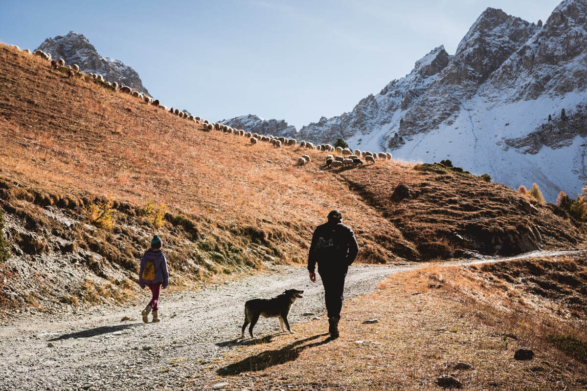
<path fill-rule="evenodd" d="M 153 97 L 210 120 L 301 128 L 352 110 L 436 46 L 453 54 L 488 6 L 546 21 L 559 0 L 7 1 L 0 40 L 35 49 L 82 33 Z"/>

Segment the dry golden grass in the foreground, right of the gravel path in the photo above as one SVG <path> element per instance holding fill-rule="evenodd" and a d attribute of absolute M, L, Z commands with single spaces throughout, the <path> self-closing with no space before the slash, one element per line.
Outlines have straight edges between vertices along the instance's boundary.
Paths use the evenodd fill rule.
<path fill-rule="evenodd" d="M 464 389 L 584 389 L 586 366 L 556 350 L 546 336 L 586 341 L 585 329 L 553 322 L 555 314 L 504 306 L 507 295 L 501 302 L 478 300 L 475 295 L 493 296 L 494 287 L 471 279 L 471 273 L 465 267 L 429 267 L 396 274 L 376 293 L 345 301 L 336 341 L 324 334 L 326 321 L 295 324 L 295 335 L 235 345 L 208 366 L 215 375 L 193 380 L 194 389 L 228 382 L 234 390 L 438 390 L 441 374 L 454 375 Z M 362 324 L 369 318 L 378 322 Z M 514 360 L 522 346 L 534 349 L 535 358 Z M 473 368 L 455 369 L 457 361 Z"/>

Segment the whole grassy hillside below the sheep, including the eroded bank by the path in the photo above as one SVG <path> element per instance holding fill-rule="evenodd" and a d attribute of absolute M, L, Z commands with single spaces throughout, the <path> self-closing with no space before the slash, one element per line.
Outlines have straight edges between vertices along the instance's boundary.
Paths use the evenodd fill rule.
<path fill-rule="evenodd" d="M 12 253 L 0 267 L 14 279 L 0 280 L 0 300 L 8 304 L 41 305 L 53 288 L 71 305 L 130 297 L 129 277 L 154 232 L 167 243 L 176 285 L 302 262 L 313 227 L 334 208 L 355 229 L 359 261 L 370 263 L 583 240 L 567 220 L 505 186 L 395 161 L 332 171 L 324 152 L 204 132 L 4 45 L 0 140 Z M 302 154 L 312 162 L 296 165 Z M 411 198 L 392 199 L 399 183 Z M 100 212 L 112 219 L 96 220 Z"/>

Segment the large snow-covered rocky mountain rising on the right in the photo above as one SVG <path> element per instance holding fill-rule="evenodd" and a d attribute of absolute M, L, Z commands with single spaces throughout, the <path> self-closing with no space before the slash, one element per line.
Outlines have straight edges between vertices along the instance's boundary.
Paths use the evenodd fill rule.
<path fill-rule="evenodd" d="M 285 135 L 450 158 L 512 188 L 537 182 L 550 201 L 576 196 L 587 179 L 587 0 L 563 1 L 544 25 L 487 8 L 454 55 L 437 47 L 352 111 Z"/>

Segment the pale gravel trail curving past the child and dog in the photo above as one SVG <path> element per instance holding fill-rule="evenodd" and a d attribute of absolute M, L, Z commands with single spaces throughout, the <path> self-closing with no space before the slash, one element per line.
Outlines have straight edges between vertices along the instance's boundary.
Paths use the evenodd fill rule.
<path fill-rule="evenodd" d="M 522 256 L 463 260 L 446 266 L 491 263 L 528 257 L 555 257 L 581 251 L 534 251 Z M 346 297 L 367 294 L 386 276 L 424 267 L 352 266 Z M 305 290 L 292 308 L 290 321 L 309 320 L 323 311 L 322 284 L 312 284 L 302 267 L 283 267 L 272 274 L 242 278 L 216 288 L 166 295 L 163 320 L 143 324 L 144 305 L 104 310 L 63 319 L 31 318 L 0 328 L 0 390 L 154 390 L 180 389 L 188 378 L 205 377 L 210 362 L 227 349 L 250 344 L 237 339 L 242 309 L 251 297 L 268 297 L 286 288 Z M 315 315 L 316 314 L 316 315 Z M 130 316 L 131 321 L 120 321 Z M 261 319 L 258 336 L 275 335 L 278 322 Z M 266 342 L 266 339 L 262 339 Z M 212 362 L 213 364 L 213 362 Z"/>

